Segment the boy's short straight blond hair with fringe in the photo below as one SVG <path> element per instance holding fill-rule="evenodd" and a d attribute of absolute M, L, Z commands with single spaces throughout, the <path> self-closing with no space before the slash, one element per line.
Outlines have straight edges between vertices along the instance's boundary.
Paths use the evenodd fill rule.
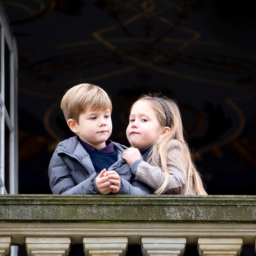
<path fill-rule="evenodd" d="M 81 113 L 107 109 L 112 112 L 112 103 L 109 95 L 101 87 L 90 83 L 81 83 L 70 88 L 63 96 L 60 108 L 66 121 L 73 119 L 79 123 Z"/>

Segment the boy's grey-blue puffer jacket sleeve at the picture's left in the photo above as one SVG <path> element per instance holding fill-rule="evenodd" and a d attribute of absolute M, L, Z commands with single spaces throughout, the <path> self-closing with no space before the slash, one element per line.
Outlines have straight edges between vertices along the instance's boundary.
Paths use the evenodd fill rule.
<path fill-rule="evenodd" d="M 53 153 L 53 157 L 49 163 L 49 182 L 50 188 L 53 194 L 62 195 L 89 195 L 97 194 L 94 188 L 94 177 L 96 173 L 93 173 L 86 180 L 79 184 L 75 184 L 72 179 L 72 175 L 64 159 L 56 152 Z"/>

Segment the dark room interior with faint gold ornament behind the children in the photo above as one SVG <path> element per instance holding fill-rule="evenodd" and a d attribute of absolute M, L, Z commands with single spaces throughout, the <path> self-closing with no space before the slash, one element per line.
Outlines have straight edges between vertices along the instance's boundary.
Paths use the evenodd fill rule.
<path fill-rule="evenodd" d="M 19 193 L 49 194 L 64 92 L 94 83 L 128 146 L 138 96 L 176 99 L 209 194 L 255 195 L 254 0 L 2 0 L 19 53 Z"/>

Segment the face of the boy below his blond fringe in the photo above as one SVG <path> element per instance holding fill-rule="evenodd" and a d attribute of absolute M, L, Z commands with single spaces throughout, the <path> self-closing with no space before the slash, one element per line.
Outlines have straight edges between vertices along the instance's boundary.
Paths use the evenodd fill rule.
<path fill-rule="evenodd" d="M 106 146 L 105 141 L 109 139 L 112 132 L 111 112 L 97 110 L 80 114 L 79 124 L 76 124 L 76 134 L 84 142 L 93 147 L 101 149 Z"/>

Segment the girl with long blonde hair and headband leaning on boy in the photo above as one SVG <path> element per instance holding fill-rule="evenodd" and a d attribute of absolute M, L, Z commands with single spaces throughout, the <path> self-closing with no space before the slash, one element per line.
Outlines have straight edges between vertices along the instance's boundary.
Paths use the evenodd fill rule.
<path fill-rule="evenodd" d="M 173 100 L 143 95 L 132 105 L 126 135 L 132 147 L 123 159 L 136 180 L 155 194 L 207 195 Z"/>

